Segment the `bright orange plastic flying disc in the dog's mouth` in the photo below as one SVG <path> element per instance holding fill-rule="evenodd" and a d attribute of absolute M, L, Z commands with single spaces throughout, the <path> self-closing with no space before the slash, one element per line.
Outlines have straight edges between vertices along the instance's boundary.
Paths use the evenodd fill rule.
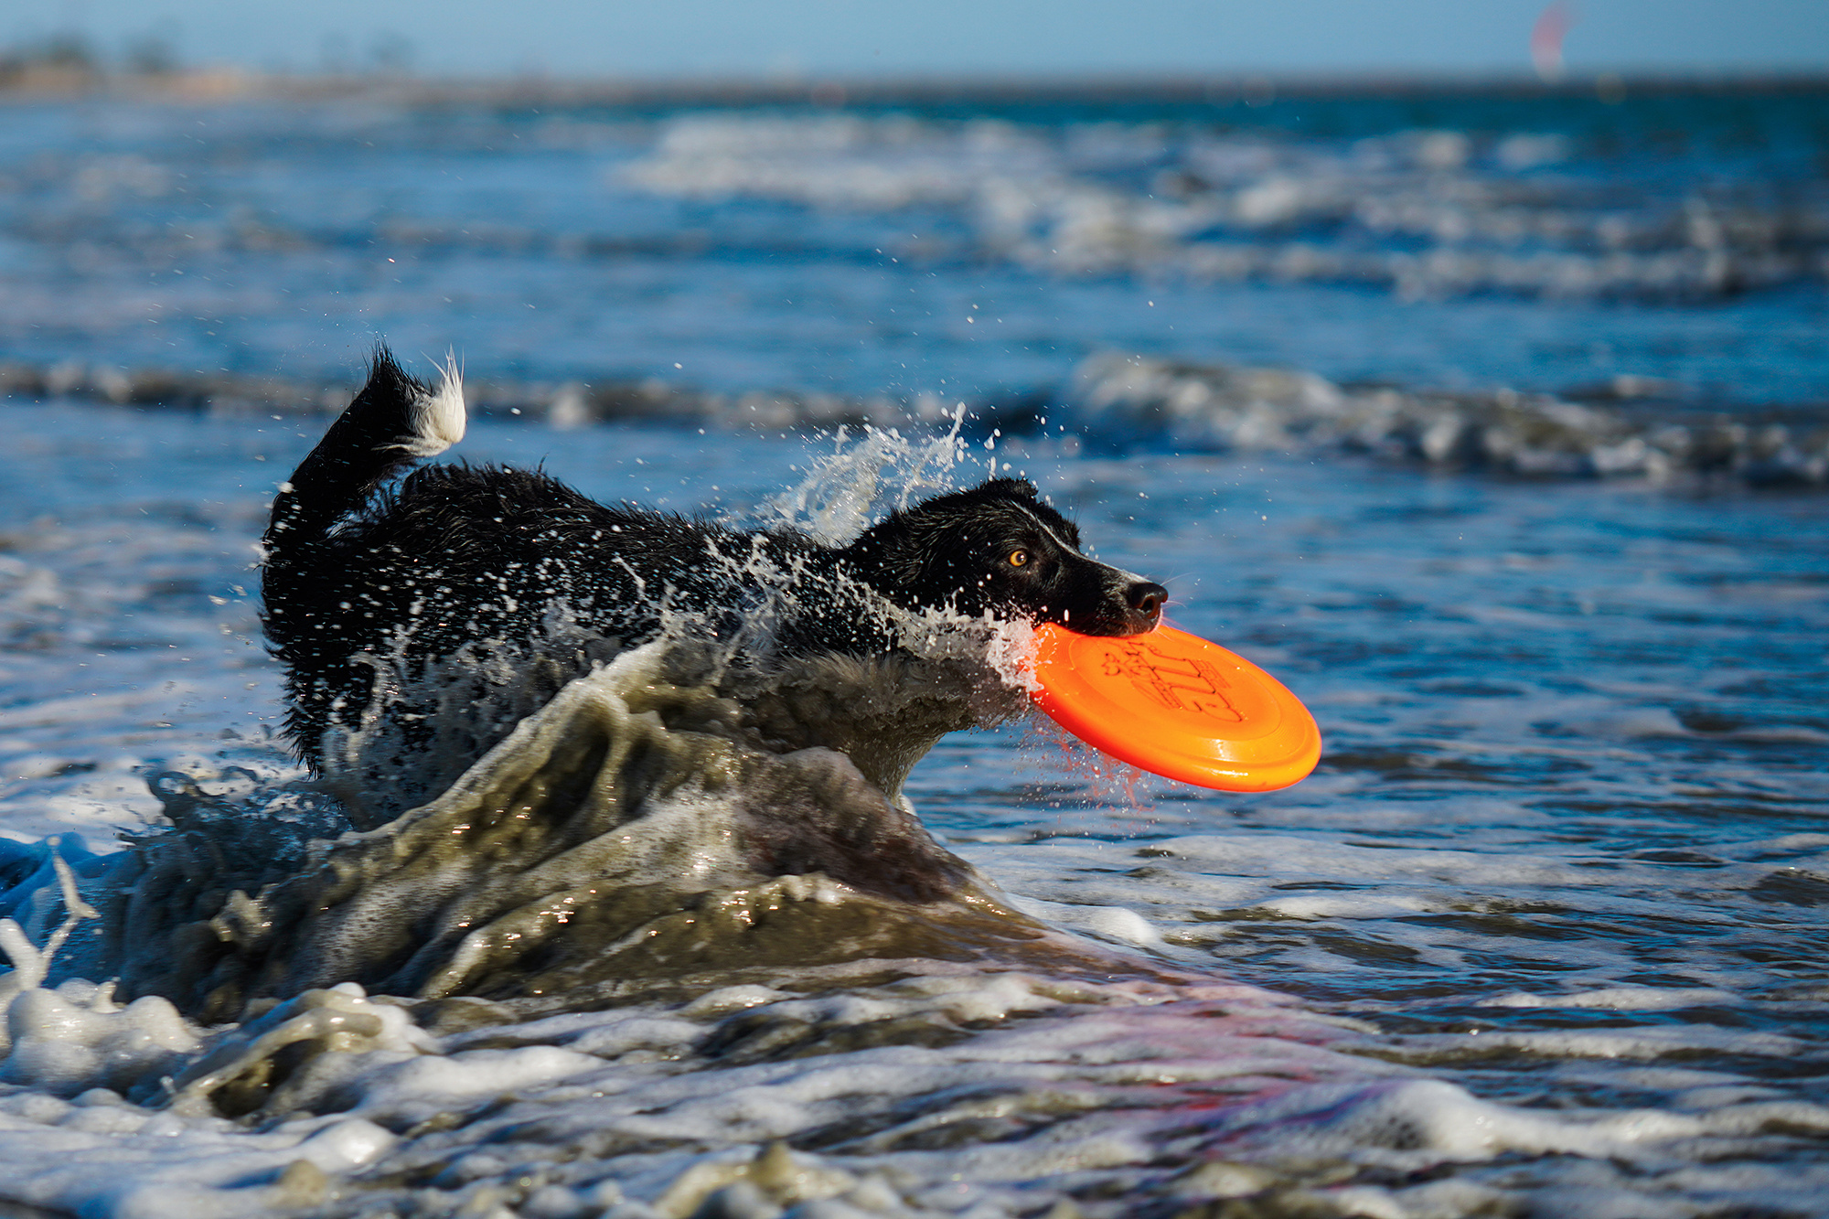
<path fill-rule="evenodd" d="M 1079 635 L 1035 628 L 1035 683 L 1055 723 L 1163 778 L 1222 791 L 1277 791 L 1308 778 L 1321 728 L 1262 668 L 1198 635 Z"/>

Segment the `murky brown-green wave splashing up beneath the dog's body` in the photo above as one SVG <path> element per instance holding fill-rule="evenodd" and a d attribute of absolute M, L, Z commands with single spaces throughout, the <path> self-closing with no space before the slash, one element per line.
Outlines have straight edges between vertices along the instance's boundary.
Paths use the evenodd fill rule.
<path fill-rule="evenodd" d="M 221 1021 L 344 981 L 543 1012 L 867 957 L 1064 952 L 849 754 L 737 739 L 677 652 L 624 653 L 432 802 L 331 840 L 168 778 L 174 829 L 91 899 L 88 968 Z M 872 685 L 900 719 L 933 683 L 896 677 Z M 861 690 L 823 694 L 867 736 Z"/>

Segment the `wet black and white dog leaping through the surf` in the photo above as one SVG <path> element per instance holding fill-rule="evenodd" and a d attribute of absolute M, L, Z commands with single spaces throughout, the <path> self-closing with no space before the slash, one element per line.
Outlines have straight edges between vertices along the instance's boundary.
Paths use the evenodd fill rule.
<path fill-rule="evenodd" d="M 538 470 L 437 465 L 382 487 L 463 434 L 454 370 L 430 386 L 377 350 L 368 384 L 273 502 L 265 628 L 285 664 L 287 730 L 313 769 L 331 761 L 327 734 L 377 716 L 433 719 L 435 683 L 415 679 L 454 657 L 538 663 L 556 690 L 682 617 L 706 637 L 743 641 L 765 602 L 775 659 L 861 664 L 902 644 L 894 615 L 872 600 L 1132 635 L 1156 626 L 1167 599 L 1081 555 L 1072 522 L 1010 478 L 893 512 L 843 547 L 602 505 Z M 940 730 L 973 723 L 960 708 L 929 719 Z M 477 745 L 510 727 L 487 725 Z M 889 794 L 933 745 L 905 734 L 876 772 L 860 761 Z"/>

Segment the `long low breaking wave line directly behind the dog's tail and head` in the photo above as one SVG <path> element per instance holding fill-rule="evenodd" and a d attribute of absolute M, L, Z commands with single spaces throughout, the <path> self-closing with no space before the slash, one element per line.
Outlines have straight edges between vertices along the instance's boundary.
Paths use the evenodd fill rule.
<path fill-rule="evenodd" d="M 324 403 L 340 408 L 348 401 L 348 390 L 225 375 L 0 368 L 0 386 L 7 383 L 22 395 L 71 394 L 223 415 L 320 414 Z M 708 394 L 616 381 L 589 386 L 485 383 L 470 394 L 483 414 L 556 428 L 618 421 L 704 423 L 730 430 L 863 426 L 885 441 L 898 441 L 898 428 L 949 430 L 957 439 L 966 426 L 980 437 L 1066 434 L 1075 443 L 1116 450 L 1348 452 L 1525 478 L 1727 478 L 1758 487 L 1829 483 L 1829 423 L 1822 406 L 1723 410 L 1686 386 L 1633 375 L 1558 395 L 1509 386 L 1353 386 L 1306 370 L 1103 353 L 1083 361 L 1072 379 L 1054 390 L 989 397 L 969 406 L 949 406 L 936 394 L 911 399 Z M 938 485 L 909 481 L 904 494 Z M 807 523 L 814 533 L 825 527 Z"/>

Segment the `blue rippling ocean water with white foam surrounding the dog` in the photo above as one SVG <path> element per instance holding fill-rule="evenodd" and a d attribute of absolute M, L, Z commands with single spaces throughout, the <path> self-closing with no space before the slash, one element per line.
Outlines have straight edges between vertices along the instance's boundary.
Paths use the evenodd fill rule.
<path fill-rule="evenodd" d="M 346 379 L 386 335 L 472 375 L 951 403 L 1118 351 L 1407 390 L 1630 375 L 1672 410 L 1820 421 L 1818 102 L 16 106 L 0 357 Z M 660 902 L 540 930 L 571 987 L 514 983 L 503 941 L 477 959 L 508 966 L 390 990 L 364 935 L 419 926 L 417 891 L 375 860 L 497 879 L 421 842 L 488 800 L 455 793 L 344 840 L 355 899 L 311 888 L 305 844 L 344 825 L 274 738 L 254 542 L 326 419 L 0 410 L 0 977 L 33 983 L 5 1203 L 1825 1214 L 1820 492 L 968 432 L 940 476 L 1035 478 L 1171 620 L 1315 710 L 1317 772 L 1235 796 L 1046 721 L 947 736 L 905 794 L 975 873 L 925 904 L 759 875 L 719 846 L 741 807 L 657 800 L 633 862 L 591 858 Z M 825 505 L 841 533 L 925 436 L 479 417 L 454 456 L 732 520 Z M 556 772 L 567 734 L 649 732 L 644 681 L 578 688 L 468 791 Z M 691 738 L 655 714 L 640 739 Z M 490 868 L 540 871 L 510 846 Z M 311 901 L 249 880 L 283 875 Z M 373 921 L 337 922 L 351 901 Z M 146 983 L 190 961 L 254 1003 Z M 155 994 L 115 1003 L 117 976 Z"/>

